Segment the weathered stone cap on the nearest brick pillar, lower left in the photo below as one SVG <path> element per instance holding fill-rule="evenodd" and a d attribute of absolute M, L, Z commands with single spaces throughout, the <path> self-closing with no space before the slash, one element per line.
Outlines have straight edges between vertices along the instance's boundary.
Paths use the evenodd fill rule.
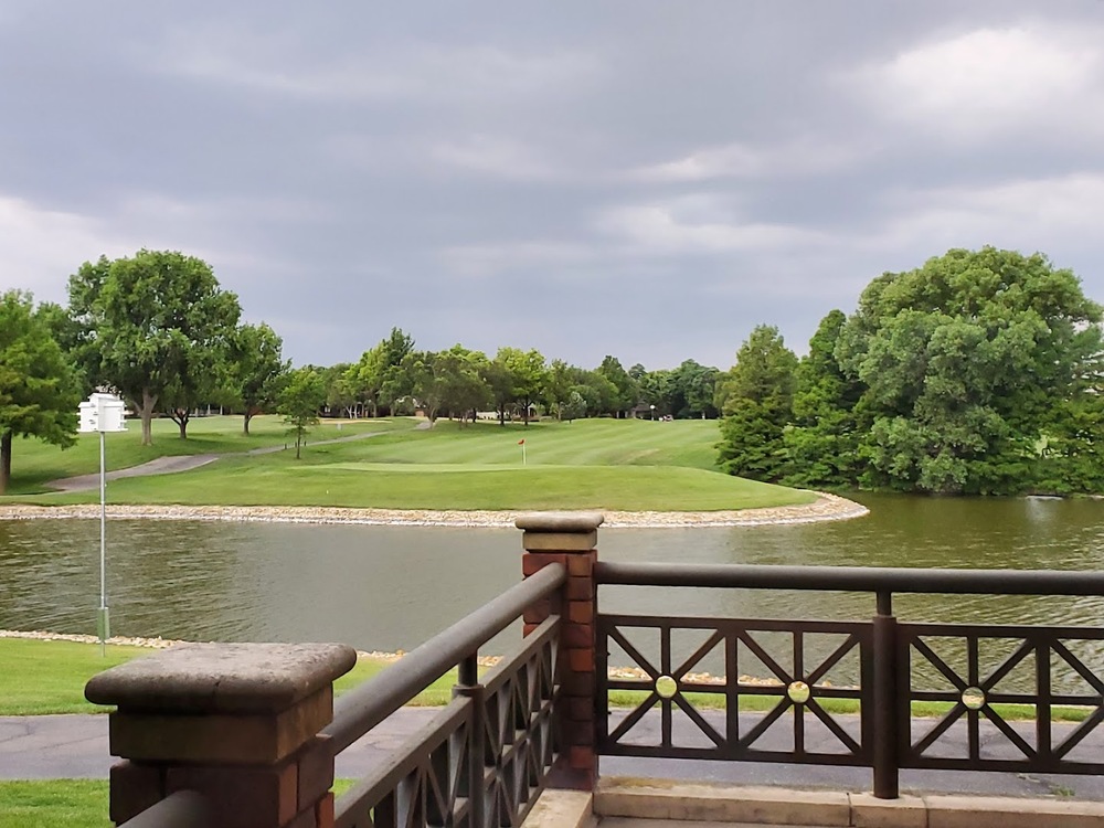
<path fill-rule="evenodd" d="M 128 712 L 277 713 L 355 664 L 343 644 L 184 644 L 93 676 L 84 696 Z"/>

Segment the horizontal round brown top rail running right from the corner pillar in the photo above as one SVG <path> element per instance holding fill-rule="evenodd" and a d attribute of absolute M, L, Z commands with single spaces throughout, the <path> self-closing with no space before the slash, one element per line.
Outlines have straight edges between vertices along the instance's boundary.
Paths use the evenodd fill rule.
<path fill-rule="evenodd" d="M 927 570 L 907 566 L 774 566 L 763 564 L 609 563 L 594 566 L 599 584 L 715 586 L 972 595 L 1104 595 L 1104 572 L 1058 570 Z"/>

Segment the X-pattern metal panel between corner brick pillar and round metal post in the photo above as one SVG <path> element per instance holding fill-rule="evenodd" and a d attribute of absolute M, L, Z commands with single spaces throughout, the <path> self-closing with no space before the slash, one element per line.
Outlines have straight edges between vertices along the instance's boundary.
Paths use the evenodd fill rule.
<path fill-rule="evenodd" d="M 658 658 L 649 657 L 637 647 L 628 630 L 654 630 L 659 635 Z M 675 636 L 700 631 L 704 639 L 688 652 L 676 654 Z M 821 704 L 822 699 L 866 698 L 862 687 L 830 686 L 828 673 L 845 658 L 858 654 L 860 671 L 868 670 L 870 625 L 848 622 L 746 620 L 722 618 L 671 618 L 666 616 L 599 615 L 597 623 L 598 680 L 598 749 L 609 755 L 671 756 L 760 762 L 807 762 L 819 764 L 867 765 L 870 763 L 868 725 L 840 721 Z M 785 655 L 772 651 L 766 638 L 788 640 Z M 825 637 L 836 641 L 827 656 L 810 660 L 809 644 Z M 611 645 L 616 645 L 645 678 L 609 678 Z M 723 683 L 694 680 L 688 677 L 703 659 L 719 651 L 724 662 Z M 820 649 L 822 651 L 822 648 Z M 771 675 L 767 681 L 745 681 L 741 678 L 741 654 Z M 786 666 L 788 665 L 790 666 Z M 619 721 L 609 716 L 609 691 L 628 690 L 641 694 L 641 700 Z M 688 693 L 724 696 L 724 714 L 700 710 Z M 771 697 L 776 702 L 761 716 L 741 715 L 744 697 Z M 658 707 L 658 734 L 651 741 L 630 734 L 639 733 L 641 723 Z M 676 734 L 675 713 L 692 725 Z M 766 734 L 787 713 L 793 716 L 793 747 L 779 750 L 766 744 Z M 820 728 L 821 739 L 810 746 L 806 716 L 813 716 Z M 612 728 L 612 729 L 611 729 Z M 647 739 L 647 736 L 645 736 Z M 703 744 L 684 744 L 694 739 Z M 835 740 L 835 742 L 832 742 Z M 824 743 L 829 743 L 826 746 Z"/>

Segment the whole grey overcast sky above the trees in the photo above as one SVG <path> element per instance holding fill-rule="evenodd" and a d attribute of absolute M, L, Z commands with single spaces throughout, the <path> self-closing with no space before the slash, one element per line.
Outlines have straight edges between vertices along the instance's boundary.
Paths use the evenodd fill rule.
<path fill-rule="evenodd" d="M 884 270 L 1104 300 L 1104 2 L 0 4 L 0 289 L 206 259 L 297 364 L 804 352 Z"/>

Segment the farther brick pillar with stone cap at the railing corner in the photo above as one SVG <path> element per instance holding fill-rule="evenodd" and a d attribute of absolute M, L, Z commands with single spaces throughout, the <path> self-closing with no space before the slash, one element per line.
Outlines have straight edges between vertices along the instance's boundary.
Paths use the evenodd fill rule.
<path fill-rule="evenodd" d="M 563 690 L 558 710 L 561 755 L 552 782 L 556 787 L 583 790 L 593 789 L 598 775 L 594 725 L 594 562 L 598 558 L 602 521 L 603 516 L 595 512 L 538 512 L 522 516 L 516 522 L 524 532 L 521 572 L 526 577 L 550 563 L 562 563 L 567 570 L 563 595 L 526 613 L 526 635 L 550 613 L 561 614 Z"/>

